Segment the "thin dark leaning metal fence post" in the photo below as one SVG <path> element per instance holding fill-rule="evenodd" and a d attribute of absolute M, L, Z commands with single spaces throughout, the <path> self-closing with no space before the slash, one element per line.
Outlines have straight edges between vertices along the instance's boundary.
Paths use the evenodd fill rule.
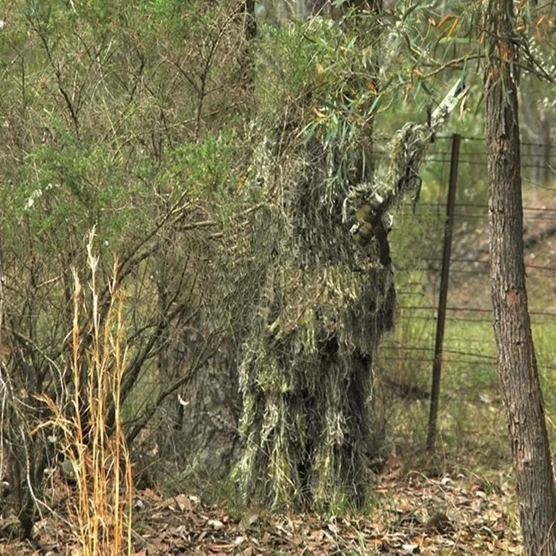
<path fill-rule="evenodd" d="M 448 278 L 450 277 L 450 252 L 452 250 L 452 227 L 456 200 L 457 163 L 459 160 L 459 142 L 461 137 L 452 135 L 452 155 L 450 157 L 450 183 L 448 185 L 448 202 L 446 204 L 446 223 L 444 228 L 444 247 L 442 251 L 442 268 L 440 277 L 439 310 L 436 318 L 436 341 L 434 343 L 434 360 L 432 362 L 432 388 L 430 394 L 429 432 L 427 450 L 434 451 L 436 440 L 436 420 L 439 410 L 440 375 L 442 369 L 442 344 L 446 320 L 446 302 L 448 300 Z"/>

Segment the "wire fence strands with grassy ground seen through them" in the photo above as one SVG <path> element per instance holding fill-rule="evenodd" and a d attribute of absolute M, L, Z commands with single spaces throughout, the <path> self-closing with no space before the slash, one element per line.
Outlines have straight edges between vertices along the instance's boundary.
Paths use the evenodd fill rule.
<path fill-rule="evenodd" d="M 550 194 L 556 190 L 556 145 L 522 142 L 521 157 L 530 316 L 539 369 L 550 373 L 556 370 L 556 197 L 552 199 Z M 380 160 L 379 154 L 379 164 Z M 428 391 L 427 382 L 439 354 L 436 329 L 443 320 L 443 393 L 449 389 L 464 391 L 459 399 L 466 402 L 477 399 L 479 389 L 498 389 L 484 138 L 461 137 L 450 224 L 447 303 L 441 315 L 441 277 L 448 272 L 442 245 L 451 162 L 452 137 L 436 137 L 423 169 L 421 202 L 415 213 L 407 206 L 398 215 L 400 222 L 395 226 L 399 229 L 395 227 L 391 236 L 398 322 L 395 332 L 382 344 L 379 364 L 387 375 L 398 377 L 400 382 L 419 382 Z"/>

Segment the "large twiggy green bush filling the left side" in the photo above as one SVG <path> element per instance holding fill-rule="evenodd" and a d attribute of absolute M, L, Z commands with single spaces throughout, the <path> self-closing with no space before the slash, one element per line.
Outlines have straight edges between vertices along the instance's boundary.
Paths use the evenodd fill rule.
<path fill-rule="evenodd" d="M 261 195 L 246 177 L 252 88 L 237 8 L 136 0 L 11 4 L 0 30 L 0 269 L 9 322 L 2 342 L 15 354 L 6 363 L 15 393 L 10 408 L 21 406 L 24 392 L 31 399 L 47 394 L 71 413 L 66 393 L 76 386 L 64 373 L 70 284 L 72 269 L 88 280 L 83 241 L 92 227 L 103 287 L 114 253 L 120 256 L 130 355 L 122 386 L 126 433 L 156 411 L 163 389 L 145 381 L 162 372 L 158 354 L 191 337 L 184 332 L 190 320 L 207 324 L 187 349 L 174 348 L 190 358 L 187 365 L 176 359 L 172 366 L 195 372 L 235 325 L 234 313 L 245 310 L 249 234 L 237 236 L 248 230 L 245 209 Z M 230 246 L 239 263 L 223 260 Z M 81 319 L 88 332 L 90 322 Z M 172 399 L 180 379 L 177 373 L 163 383 Z M 133 398 L 141 403 L 133 406 Z M 30 486 L 40 496 L 40 466 L 49 463 L 51 445 L 31 436 L 39 409 L 22 419 L 27 436 L 15 420 L 1 423 L 2 434 L 8 443 L 17 440 L 17 457 L 25 450 L 33 461 L 36 455 Z M 21 477 L 13 480 L 26 488 Z M 19 509 L 31 530 L 29 493 L 26 500 L 25 512 Z"/>

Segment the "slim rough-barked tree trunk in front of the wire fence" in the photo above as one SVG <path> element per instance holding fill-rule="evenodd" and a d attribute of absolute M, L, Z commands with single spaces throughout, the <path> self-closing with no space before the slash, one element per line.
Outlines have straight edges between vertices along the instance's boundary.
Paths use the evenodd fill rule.
<path fill-rule="evenodd" d="M 556 495 L 523 262 L 518 70 L 512 13 L 512 0 L 486 3 L 484 90 L 493 324 L 525 552 L 553 555 Z"/>

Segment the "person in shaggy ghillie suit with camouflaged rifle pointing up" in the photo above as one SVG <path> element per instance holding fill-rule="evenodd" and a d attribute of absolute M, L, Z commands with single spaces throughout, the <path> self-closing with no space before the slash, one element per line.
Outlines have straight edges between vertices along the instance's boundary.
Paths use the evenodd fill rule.
<path fill-rule="evenodd" d="M 259 149 L 257 179 L 277 208 L 261 224 L 268 271 L 239 370 L 246 447 L 236 476 L 247 496 L 316 509 L 364 500 L 377 448 L 373 362 L 395 310 L 389 211 L 408 193 L 417 201 L 427 144 L 460 90 L 432 124 L 395 134 L 384 181 L 331 188 L 316 141 L 287 164 L 272 141 Z"/>

